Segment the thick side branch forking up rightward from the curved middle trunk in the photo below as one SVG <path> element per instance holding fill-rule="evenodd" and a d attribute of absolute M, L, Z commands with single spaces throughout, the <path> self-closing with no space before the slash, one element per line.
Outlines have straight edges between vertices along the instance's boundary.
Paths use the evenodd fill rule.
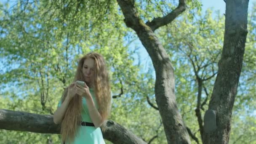
<path fill-rule="evenodd" d="M 177 16 L 179 16 L 183 11 L 186 10 L 185 0 L 179 0 L 179 5 L 175 8 L 171 13 L 163 17 L 158 17 L 153 19 L 152 21 L 148 21 L 146 24 L 152 29 L 154 32 L 159 27 L 163 27 L 169 23 L 171 23 Z"/>

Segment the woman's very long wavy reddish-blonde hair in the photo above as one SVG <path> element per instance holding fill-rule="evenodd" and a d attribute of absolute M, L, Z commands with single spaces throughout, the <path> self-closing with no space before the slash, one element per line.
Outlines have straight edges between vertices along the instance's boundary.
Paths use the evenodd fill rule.
<path fill-rule="evenodd" d="M 75 74 L 74 82 L 77 80 L 85 81 L 83 76 L 83 63 L 85 59 L 94 59 L 94 80 L 91 87 L 94 88 L 94 93 L 99 106 L 99 113 L 104 120 L 110 115 L 111 110 L 111 88 L 109 82 L 109 74 L 104 57 L 99 53 L 88 53 L 83 56 L 78 62 L 77 71 Z M 68 88 L 65 89 L 61 101 L 63 102 L 67 97 Z M 61 122 L 61 141 L 73 142 L 75 139 L 76 131 L 79 128 L 78 125 L 81 121 L 82 110 L 82 97 L 75 95 L 70 100 L 67 111 L 64 115 L 64 119 Z"/>

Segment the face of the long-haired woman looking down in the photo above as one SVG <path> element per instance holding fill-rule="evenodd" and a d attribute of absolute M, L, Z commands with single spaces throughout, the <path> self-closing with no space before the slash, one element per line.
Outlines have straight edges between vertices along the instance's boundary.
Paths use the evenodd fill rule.
<path fill-rule="evenodd" d="M 94 64 L 95 60 L 91 58 L 85 59 L 83 62 L 83 76 L 85 77 L 85 82 L 90 85 L 94 80 Z"/>

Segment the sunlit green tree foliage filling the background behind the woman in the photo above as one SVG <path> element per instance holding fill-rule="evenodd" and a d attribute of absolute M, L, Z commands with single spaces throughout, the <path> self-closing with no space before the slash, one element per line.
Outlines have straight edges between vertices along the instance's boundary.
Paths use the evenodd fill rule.
<path fill-rule="evenodd" d="M 223 46 L 224 16 L 211 10 L 202 14 L 198 1 L 187 2 L 188 8 L 173 23 L 157 29 L 168 52 L 176 76 L 176 101 L 181 115 L 200 139 L 195 116 L 198 83 L 202 92 L 201 109 L 208 107 Z M 171 0 L 138 0 L 143 20 L 165 16 L 177 6 Z M 134 64 L 136 35 L 127 29 L 115 1 L 19 1 L 14 6 L 0 4 L 0 108 L 37 114 L 53 114 L 63 88 L 72 82 L 77 61 L 89 51 L 102 53 L 109 66 L 113 100 L 110 119 L 137 136 L 154 144 L 166 143 L 155 103 L 155 77 L 152 66 Z M 256 5 L 248 21 L 248 38 L 244 64 L 232 115 L 230 143 L 254 143 Z M 193 64 L 196 66 L 194 69 Z M 196 72 L 198 70 L 198 72 Z M 213 75 L 213 77 L 211 77 Z M 123 90 L 123 94 L 118 95 Z M 1 130 L 0 143 L 59 143 L 59 135 Z M 250 139 L 249 139 L 250 138 Z M 110 143 L 110 142 L 107 142 Z M 192 141 L 195 143 L 195 141 Z M 201 143 L 201 140 L 200 140 Z"/>

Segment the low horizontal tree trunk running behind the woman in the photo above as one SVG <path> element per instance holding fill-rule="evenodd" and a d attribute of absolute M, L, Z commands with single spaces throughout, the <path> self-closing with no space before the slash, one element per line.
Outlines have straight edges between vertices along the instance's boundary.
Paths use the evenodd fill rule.
<path fill-rule="evenodd" d="M 0 129 L 34 133 L 60 133 L 60 125 L 53 123 L 53 115 L 38 115 L 0 109 Z M 108 120 L 103 131 L 104 139 L 113 144 L 146 144 L 122 125 Z"/>

